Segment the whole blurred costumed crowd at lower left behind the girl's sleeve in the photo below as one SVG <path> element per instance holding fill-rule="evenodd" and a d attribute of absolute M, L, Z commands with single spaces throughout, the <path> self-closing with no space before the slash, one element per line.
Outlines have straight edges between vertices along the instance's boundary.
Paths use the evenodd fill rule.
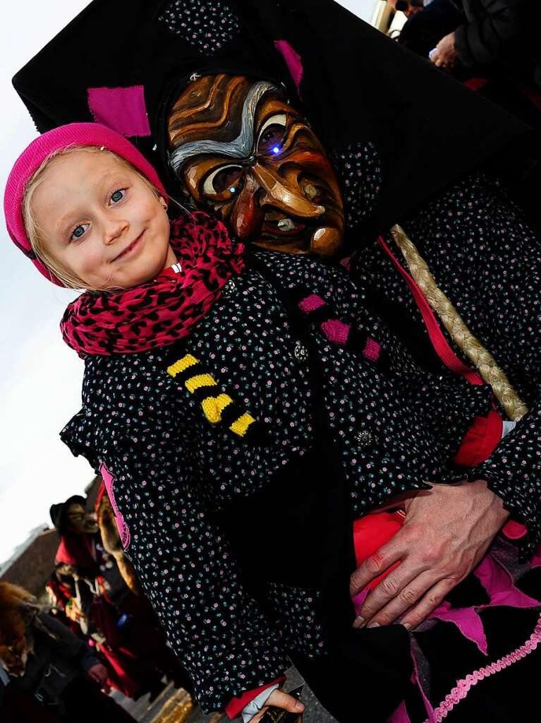
<path fill-rule="evenodd" d="M 93 509 L 75 495 L 51 506 L 51 521 L 60 544 L 48 605 L 0 583 L 0 718 L 121 723 L 133 718 L 111 689 L 150 701 L 170 682 L 191 691 L 124 557 L 103 484 Z"/>

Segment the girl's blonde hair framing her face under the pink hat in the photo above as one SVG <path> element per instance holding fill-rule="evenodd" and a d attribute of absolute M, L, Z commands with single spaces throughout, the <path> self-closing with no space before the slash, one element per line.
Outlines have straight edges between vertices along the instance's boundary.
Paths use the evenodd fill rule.
<path fill-rule="evenodd" d="M 157 195 L 157 197 L 160 197 L 162 195 L 160 191 L 149 181 L 149 179 L 147 179 L 147 177 L 141 173 L 141 171 L 135 168 L 135 166 L 129 163 L 129 161 L 126 161 L 126 158 L 122 158 L 121 155 L 113 153 L 112 150 L 108 150 L 108 148 L 105 148 L 103 146 L 100 147 L 95 145 L 69 145 L 65 148 L 61 148 L 60 150 L 55 150 L 53 151 L 53 153 L 48 155 L 45 161 L 43 161 L 43 163 L 41 163 L 39 168 L 35 171 L 33 176 L 31 176 L 25 189 L 25 195 L 22 199 L 22 220 L 25 223 L 25 231 L 28 237 L 28 241 L 30 241 L 30 247 L 32 248 L 33 252 L 38 257 L 38 259 L 46 265 L 51 274 L 56 276 L 56 278 L 58 278 L 59 281 L 61 281 L 64 286 L 66 286 L 66 288 L 86 289 L 86 291 L 113 291 L 112 288 L 89 288 L 87 283 L 85 283 L 82 278 L 79 278 L 79 276 L 72 272 L 72 270 L 66 268 L 58 260 L 56 260 L 53 254 L 51 254 L 46 248 L 46 244 L 44 244 L 43 242 L 42 229 L 38 225 L 35 214 L 33 213 L 33 195 L 36 189 L 46 179 L 46 171 L 51 162 L 54 161 L 56 158 L 61 158 L 64 155 L 69 155 L 79 150 L 86 150 L 91 153 L 107 153 L 108 155 L 112 155 L 113 158 L 116 158 L 118 161 L 123 163 L 126 168 L 130 169 L 130 171 L 134 171 L 134 173 L 139 176 L 139 179 L 144 181 L 144 183 L 147 184 L 147 186 L 152 190 L 153 193 Z"/>

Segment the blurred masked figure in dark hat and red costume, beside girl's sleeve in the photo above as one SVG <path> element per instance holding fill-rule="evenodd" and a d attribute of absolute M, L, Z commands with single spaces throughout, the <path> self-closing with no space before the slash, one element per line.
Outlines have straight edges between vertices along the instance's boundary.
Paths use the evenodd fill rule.
<path fill-rule="evenodd" d="M 72 591 L 66 596 L 65 586 L 51 585 L 50 592 L 79 623 L 82 633 L 95 639 L 113 688 L 129 698 L 147 692 L 155 698 L 163 690 L 166 675 L 177 688 L 191 690 L 189 677 L 167 645 L 147 598 L 126 586 L 113 556 L 103 549 L 95 515 L 85 505 L 80 495 L 51 505 L 51 521 L 61 534 L 57 570 L 61 579 L 58 566 L 68 568 Z"/>

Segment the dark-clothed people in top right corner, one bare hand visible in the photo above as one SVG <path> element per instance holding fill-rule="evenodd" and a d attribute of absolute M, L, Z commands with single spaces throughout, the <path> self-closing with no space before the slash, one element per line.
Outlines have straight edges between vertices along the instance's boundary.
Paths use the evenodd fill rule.
<path fill-rule="evenodd" d="M 389 0 L 399 42 L 533 127 L 541 117 L 539 6 L 532 0 Z"/>

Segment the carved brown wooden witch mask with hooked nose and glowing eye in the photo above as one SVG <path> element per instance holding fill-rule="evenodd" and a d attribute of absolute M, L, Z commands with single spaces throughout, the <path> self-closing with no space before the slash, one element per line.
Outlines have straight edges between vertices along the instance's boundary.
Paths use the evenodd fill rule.
<path fill-rule="evenodd" d="M 176 177 L 238 239 L 294 254 L 339 249 L 344 209 L 334 169 L 272 82 L 198 77 L 170 111 L 168 134 Z"/>

